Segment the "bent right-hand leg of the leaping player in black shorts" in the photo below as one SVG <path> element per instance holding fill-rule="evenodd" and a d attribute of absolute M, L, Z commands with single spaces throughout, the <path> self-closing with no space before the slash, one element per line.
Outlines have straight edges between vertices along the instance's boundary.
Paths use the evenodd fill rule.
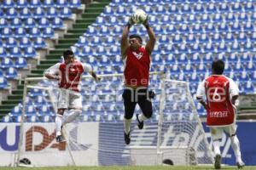
<path fill-rule="evenodd" d="M 140 106 L 142 110 L 142 114 L 137 115 L 137 126 L 139 129 L 143 128 L 144 121 L 150 118 L 153 114 L 152 102 L 148 98 L 147 89 L 142 89 L 137 91 L 137 104 Z"/>

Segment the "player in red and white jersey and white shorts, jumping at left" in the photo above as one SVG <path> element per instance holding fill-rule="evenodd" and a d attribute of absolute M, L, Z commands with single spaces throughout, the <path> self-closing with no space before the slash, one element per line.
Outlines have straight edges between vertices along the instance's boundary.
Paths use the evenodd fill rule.
<path fill-rule="evenodd" d="M 64 62 L 57 63 L 45 71 L 44 76 L 51 80 L 59 81 L 60 94 L 58 97 L 58 111 L 55 117 L 56 141 L 64 142 L 61 127 L 68 122 L 73 122 L 82 113 L 82 97 L 79 93 L 79 82 L 84 72 L 89 72 L 96 82 L 100 79 L 96 77 L 92 67 L 81 63 L 74 58 L 73 51 L 67 50 L 63 53 Z M 70 110 L 64 119 L 65 110 Z"/>

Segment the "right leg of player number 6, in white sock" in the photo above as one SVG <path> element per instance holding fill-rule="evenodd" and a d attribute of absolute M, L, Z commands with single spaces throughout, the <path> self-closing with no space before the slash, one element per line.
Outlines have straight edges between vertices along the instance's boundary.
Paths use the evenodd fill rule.
<path fill-rule="evenodd" d="M 236 123 L 233 123 L 229 127 L 225 127 L 224 131 L 229 134 L 231 140 L 231 146 L 236 156 L 236 165 L 238 168 L 244 167 L 245 164 L 241 161 L 241 150 L 239 139 L 236 136 Z"/>

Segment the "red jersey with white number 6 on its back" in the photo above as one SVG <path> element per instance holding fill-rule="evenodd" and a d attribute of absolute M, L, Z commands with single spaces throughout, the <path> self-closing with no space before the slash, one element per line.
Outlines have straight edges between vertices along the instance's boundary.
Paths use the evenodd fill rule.
<path fill-rule="evenodd" d="M 232 87 L 230 88 L 230 78 L 212 75 L 205 80 L 204 88 L 208 105 L 207 125 L 225 126 L 232 124 L 236 115 L 236 107 L 231 102 L 230 93 L 232 96 L 234 92 Z"/>

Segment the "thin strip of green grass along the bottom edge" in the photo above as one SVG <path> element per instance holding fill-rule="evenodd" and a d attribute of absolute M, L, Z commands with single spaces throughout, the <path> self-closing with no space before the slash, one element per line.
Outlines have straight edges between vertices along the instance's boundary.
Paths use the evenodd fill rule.
<path fill-rule="evenodd" d="M 214 169 L 213 166 L 193 166 L 193 167 L 178 167 L 178 166 L 158 166 L 158 167 L 0 167 L 0 170 L 207 170 Z M 222 167 L 221 169 L 237 169 L 237 167 Z M 242 169 L 256 170 L 256 167 L 243 167 Z"/>

